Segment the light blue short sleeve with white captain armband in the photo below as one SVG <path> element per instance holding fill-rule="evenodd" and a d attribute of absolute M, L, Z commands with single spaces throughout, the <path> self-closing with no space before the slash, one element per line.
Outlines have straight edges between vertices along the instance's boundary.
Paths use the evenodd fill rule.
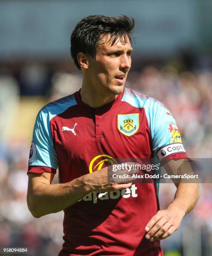
<path fill-rule="evenodd" d="M 180 131 L 172 114 L 162 103 L 155 103 L 152 144 L 159 160 L 175 154 L 187 158 Z M 177 157 L 177 156 L 176 156 Z"/>

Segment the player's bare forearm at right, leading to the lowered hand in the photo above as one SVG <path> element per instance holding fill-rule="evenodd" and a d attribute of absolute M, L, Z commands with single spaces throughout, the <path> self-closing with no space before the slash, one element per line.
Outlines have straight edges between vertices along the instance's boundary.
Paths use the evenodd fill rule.
<path fill-rule="evenodd" d="M 200 187 L 198 183 L 180 183 L 177 185 L 175 199 L 168 209 L 180 211 L 184 217 L 195 207 L 199 197 Z"/>

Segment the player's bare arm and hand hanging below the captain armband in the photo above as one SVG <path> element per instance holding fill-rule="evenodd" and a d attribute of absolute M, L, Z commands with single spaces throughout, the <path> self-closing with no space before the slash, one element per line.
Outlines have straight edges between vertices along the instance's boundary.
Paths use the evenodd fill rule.
<path fill-rule="evenodd" d="M 164 165 L 168 174 L 179 174 L 179 169 L 181 169 L 180 166 L 182 166 L 183 161 L 185 159 L 168 161 Z M 182 171 L 185 172 L 185 170 Z M 192 172 L 191 167 L 190 172 Z M 177 187 L 177 191 L 173 202 L 166 210 L 158 211 L 146 225 L 145 230 L 147 234 L 145 237 L 150 239 L 150 241 L 164 239 L 177 230 L 182 218 L 193 209 L 200 197 L 198 183 L 176 183 L 175 186 Z"/>

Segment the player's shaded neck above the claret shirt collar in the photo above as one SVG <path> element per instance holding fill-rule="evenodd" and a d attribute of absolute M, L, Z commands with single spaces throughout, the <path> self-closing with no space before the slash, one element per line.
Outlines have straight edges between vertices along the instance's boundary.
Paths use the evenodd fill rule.
<path fill-rule="evenodd" d="M 92 108 L 100 108 L 103 105 L 107 105 L 112 102 L 116 98 L 116 95 L 97 92 L 97 90 L 89 87 L 88 84 L 86 85 L 83 82 L 80 90 L 80 96 L 82 102 Z"/>

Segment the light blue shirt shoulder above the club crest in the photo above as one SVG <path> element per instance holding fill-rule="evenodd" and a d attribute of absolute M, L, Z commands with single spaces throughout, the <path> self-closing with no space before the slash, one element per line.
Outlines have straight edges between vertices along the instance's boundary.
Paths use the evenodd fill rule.
<path fill-rule="evenodd" d="M 145 108 L 145 110 L 162 108 L 166 109 L 165 105 L 148 95 L 136 92 L 130 88 L 125 88 L 125 92 L 122 101 L 129 103 L 135 108 Z"/>

